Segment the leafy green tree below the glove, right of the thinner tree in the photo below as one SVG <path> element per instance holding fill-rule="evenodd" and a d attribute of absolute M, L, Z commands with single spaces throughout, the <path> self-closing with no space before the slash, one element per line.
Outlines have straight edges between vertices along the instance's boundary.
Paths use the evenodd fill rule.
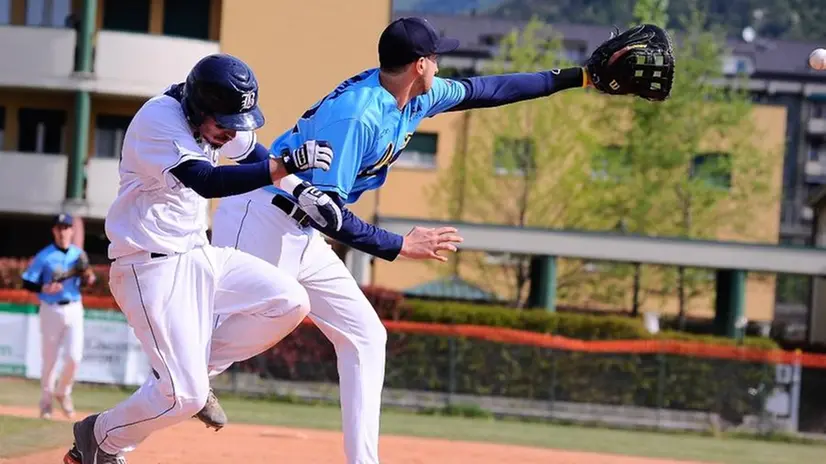
<path fill-rule="evenodd" d="M 664 0 L 639 0 L 636 22 L 665 24 L 667 7 Z M 601 184 L 612 201 L 595 208 L 637 234 L 764 238 L 749 226 L 774 200 L 770 182 L 780 154 L 756 143 L 753 105 L 742 85 L 746 79 L 720 85 L 725 52 L 720 34 L 703 30 L 706 20 L 696 9 L 680 22 L 685 33 L 675 37 L 671 98 L 657 104 L 612 98 L 602 113 L 604 127 L 631 117 L 630 128 L 614 133 L 622 146 L 600 155 L 615 175 Z M 676 291 L 681 324 L 689 301 L 711 293 L 714 283 L 702 269 L 658 268 L 652 277 L 663 296 Z"/>

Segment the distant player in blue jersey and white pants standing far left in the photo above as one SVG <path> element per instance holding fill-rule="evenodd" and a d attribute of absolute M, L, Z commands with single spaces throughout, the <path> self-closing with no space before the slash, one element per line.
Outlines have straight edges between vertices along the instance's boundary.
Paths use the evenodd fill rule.
<path fill-rule="evenodd" d="M 83 303 L 80 289 L 92 285 L 95 274 L 86 252 L 72 245 L 72 217 L 61 214 L 52 226 L 54 241 L 38 252 L 23 272 L 23 286 L 40 299 L 40 417 L 50 418 L 57 401 L 67 417 L 74 415 L 72 385 L 83 357 Z M 78 273 L 62 280 L 72 269 Z M 63 349 L 63 371 L 55 387 L 57 355 Z"/>

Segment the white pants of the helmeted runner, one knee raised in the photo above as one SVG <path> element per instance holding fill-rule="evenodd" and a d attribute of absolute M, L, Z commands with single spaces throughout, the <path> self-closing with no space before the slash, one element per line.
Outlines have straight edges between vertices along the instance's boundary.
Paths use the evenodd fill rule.
<path fill-rule="evenodd" d="M 153 431 L 201 410 L 210 353 L 221 363 L 255 356 L 263 348 L 247 340 L 265 334 L 280 340 L 309 311 L 307 292 L 295 279 L 231 248 L 119 258 L 109 287 L 152 367 L 131 397 L 95 423 L 100 448 L 111 454 L 131 451 Z M 216 315 L 226 319 L 213 329 Z"/>

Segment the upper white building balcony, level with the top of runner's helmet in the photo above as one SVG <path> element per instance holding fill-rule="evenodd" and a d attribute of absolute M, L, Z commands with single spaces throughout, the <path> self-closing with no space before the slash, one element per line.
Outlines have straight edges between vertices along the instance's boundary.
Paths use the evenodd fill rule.
<path fill-rule="evenodd" d="M 74 73 L 73 29 L 0 26 L 0 86 L 88 90 L 148 98 L 186 78 L 192 65 L 217 42 L 163 35 L 98 31 L 89 76 Z"/>

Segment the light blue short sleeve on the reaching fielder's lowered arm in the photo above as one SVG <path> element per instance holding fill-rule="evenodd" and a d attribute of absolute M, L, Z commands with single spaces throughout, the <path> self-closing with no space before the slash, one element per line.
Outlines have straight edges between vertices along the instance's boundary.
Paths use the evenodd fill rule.
<path fill-rule="evenodd" d="M 313 139 L 325 140 L 333 147 L 333 162 L 328 171 L 313 169 L 310 182 L 346 200 L 372 143 L 372 132 L 357 119 L 343 119 L 317 130 Z"/>

